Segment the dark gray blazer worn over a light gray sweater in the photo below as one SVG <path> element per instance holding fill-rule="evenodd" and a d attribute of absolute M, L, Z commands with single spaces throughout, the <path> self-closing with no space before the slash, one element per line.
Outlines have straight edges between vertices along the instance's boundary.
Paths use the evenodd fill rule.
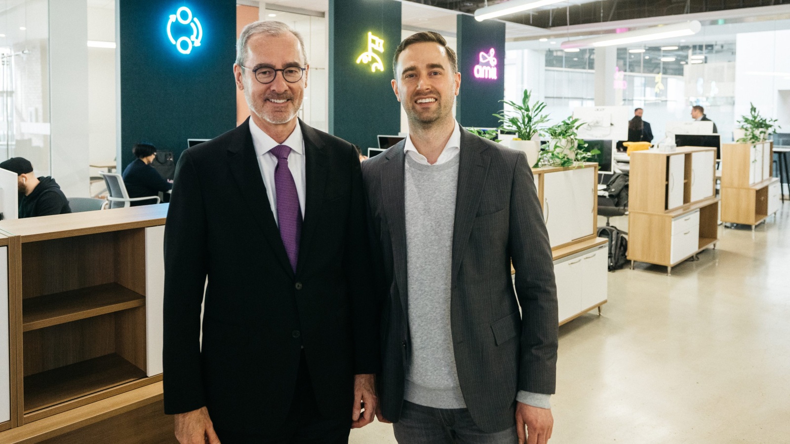
<path fill-rule="evenodd" d="M 378 389 L 382 413 L 392 421 L 401 417 L 410 351 L 404 145 L 401 141 L 362 164 L 382 296 Z M 450 309 L 453 349 L 472 419 L 483 431 L 502 431 L 513 427 L 518 390 L 555 390 L 559 322 L 551 246 L 523 152 L 461 129 L 459 156 Z"/>

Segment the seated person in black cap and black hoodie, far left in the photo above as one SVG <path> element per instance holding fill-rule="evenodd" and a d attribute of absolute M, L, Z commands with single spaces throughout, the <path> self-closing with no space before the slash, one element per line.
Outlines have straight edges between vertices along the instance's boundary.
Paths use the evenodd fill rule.
<path fill-rule="evenodd" d="M 19 181 L 19 218 L 71 213 L 69 200 L 58 182 L 49 176 L 36 177 L 33 165 L 22 157 L 12 157 L 0 168 L 17 173 Z"/>

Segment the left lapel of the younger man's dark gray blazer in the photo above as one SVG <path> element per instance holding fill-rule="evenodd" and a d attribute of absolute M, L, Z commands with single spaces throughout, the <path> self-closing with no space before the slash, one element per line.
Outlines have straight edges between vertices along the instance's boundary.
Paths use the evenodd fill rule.
<path fill-rule="evenodd" d="M 404 146 L 400 141 L 386 153 L 387 163 L 382 167 L 382 201 L 389 236 L 392 239 L 395 282 L 401 295 L 404 313 L 408 313 L 406 286 L 406 207 L 404 205 Z"/>

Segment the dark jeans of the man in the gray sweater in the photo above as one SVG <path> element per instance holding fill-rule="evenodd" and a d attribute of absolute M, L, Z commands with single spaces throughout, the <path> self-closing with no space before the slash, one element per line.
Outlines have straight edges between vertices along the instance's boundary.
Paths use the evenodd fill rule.
<path fill-rule="evenodd" d="M 398 444 L 515 444 L 513 427 L 486 433 L 472 420 L 467 408 L 433 408 L 403 402 L 401 420 L 393 424 Z"/>

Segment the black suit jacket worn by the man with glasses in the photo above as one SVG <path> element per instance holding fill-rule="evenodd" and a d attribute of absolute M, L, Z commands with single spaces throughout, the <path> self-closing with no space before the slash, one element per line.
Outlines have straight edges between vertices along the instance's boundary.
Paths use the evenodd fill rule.
<path fill-rule="evenodd" d="M 322 415 L 350 423 L 353 375 L 379 371 L 359 157 L 299 125 L 307 192 L 295 273 L 249 120 L 182 153 L 164 240 L 166 413 L 205 405 L 216 427 L 276 429 L 303 348 Z"/>

